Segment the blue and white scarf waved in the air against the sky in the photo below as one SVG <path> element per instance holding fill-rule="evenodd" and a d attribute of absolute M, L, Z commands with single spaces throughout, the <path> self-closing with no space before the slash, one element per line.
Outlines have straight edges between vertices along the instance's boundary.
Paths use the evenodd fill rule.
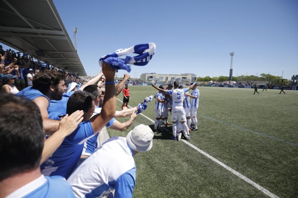
<path fill-rule="evenodd" d="M 116 70 L 126 70 L 128 72 L 131 71 L 132 65 L 144 66 L 147 65 L 148 62 L 152 59 L 152 56 L 155 53 L 156 45 L 154 43 L 145 43 L 134 45 L 130 48 L 119 49 L 111 54 L 104 55 L 99 59 L 100 67 L 103 66 L 103 62 L 109 64 Z M 126 56 L 126 58 L 119 58 L 119 56 L 124 56 L 126 54 L 139 54 L 137 56 L 131 57 Z"/>

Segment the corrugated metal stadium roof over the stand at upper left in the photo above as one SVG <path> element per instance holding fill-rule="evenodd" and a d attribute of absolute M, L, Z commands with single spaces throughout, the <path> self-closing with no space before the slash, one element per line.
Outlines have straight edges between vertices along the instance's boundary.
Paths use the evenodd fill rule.
<path fill-rule="evenodd" d="M 87 76 L 52 0 L 0 0 L 0 42 Z"/>

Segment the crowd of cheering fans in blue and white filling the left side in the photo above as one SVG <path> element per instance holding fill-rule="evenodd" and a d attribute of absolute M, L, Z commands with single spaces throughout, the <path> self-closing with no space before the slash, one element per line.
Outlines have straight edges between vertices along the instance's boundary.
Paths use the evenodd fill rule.
<path fill-rule="evenodd" d="M 85 82 L 25 54 L 1 54 L 2 90 L 7 92 L 0 93 L 2 197 L 133 197 L 133 157 L 151 149 L 152 130 L 138 125 L 126 138 L 113 137 L 102 147 L 98 135 L 105 126 L 125 131 L 150 100 L 116 111 L 116 96 L 130 76 L 125 74 L 117 86 L 114 76 L 115 70 L 104 64 Z M 26 79 L 20 90 L 15 78 Z M 127 116 L 126 122 L 115 119 Z"/>

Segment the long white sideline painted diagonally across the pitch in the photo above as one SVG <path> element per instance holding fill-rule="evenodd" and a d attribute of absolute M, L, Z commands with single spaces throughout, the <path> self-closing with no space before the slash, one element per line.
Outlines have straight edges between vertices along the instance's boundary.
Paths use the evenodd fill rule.
<path fill-rule="evenodd" d="M 117 98 L 117 100 L 119 100 Z M 122 102 L 121 100 L 119 100 L 120 102 Z M 131 106 L 129 106 L 131 108 Z M 147 118 L 148 120 L 150 120 L 151 122 L 154 123 L 153 120 L 151 120 L 149 117 L 145 116 L 144 114 L 140 113 L 142 116 L 144 116 L 145 118 Z M 211 155 L 209 155 L 208 153 L 202 151 L 201 149 L 195 147 L 193 144 L 190 144 L 189 142 L 187 142 L 184 139 L 181 139 L 182 142 L 184 142 L 185 144 L 187 144 L 188 146 L 192 147 L 193 149 L 197 150 L 198 152 L 200 152 L 201 154 L 205 155 L 207 158 L 211 159 L 212 161 L 215 161 L 217 164 L 221 165 L 222 167 L 224 167 L 225 169 L 227 169 L 229 172 L 232 172 L 234 175 L 237 175 L 238 177 L 240 177 L 241 179 L 243 179 L 244 181 L 246 181 L 247 183 L 251 184 L 252 186 L 254 186 L 255 188 L 257 188 L 258 190 L 262 191 L 263 193 L 265 193 L 266 195 L 268 195 L 269 197 L 272 198 L 279 198 L 277 197 L 275 194 L 271 193 L 270 191 L 268 191 L 266 188 L 258 185 L 257 183 L 253 182 L 252 180 L 250 180 L 249 178 L 245 177 L 244 175 L 242 175 L 241 173 L 235 171 L 234 169 L 232 169 L 231 167 L 227 166 L 226 164 L 222 163 L 221 161 L 215 159 L 214 157 L 212 157 Z"/>

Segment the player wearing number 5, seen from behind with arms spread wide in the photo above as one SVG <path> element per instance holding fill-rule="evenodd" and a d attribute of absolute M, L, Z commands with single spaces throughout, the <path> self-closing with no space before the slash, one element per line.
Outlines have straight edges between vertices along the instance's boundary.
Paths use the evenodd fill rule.
<path fill-rule="evenodd" d="M 154 87 L 155 89 L 159 90 L 160 92 L 165 92 L 167 94 L 170 94 L 172 95 L 172 115 L 171 115 L 171 120 L 172 120 L 172 123 L 173 123 L 173 126 L 172 126 L 172 129 L 173 129 L 173 136 L 171 136 L 171 139 L 173 140 L 177 140 L 176 139 L 176 131 L 177 131 L 177 128 L 176 128 L 176 123 L 177 121 L 181 121 L 182 125 L 184 126 L 185 128 L 185 131 L 187 131 L 187 135 L 189 135 L 189 131 L 188 131 L 188 127 L 187 127 L 187 124 L 186 124 L 186 115 L 185 115 L 185 111 L 184 111 L 184 108 L 183 108 L 183 96 L 184 96 L 184 93 L 187 92 L 188 90 L 192 89 L 193 88 L 193 85 L 191 85 L 189 88 L 186 88 L 186 89 L 179 89 L 179 81 L 175 81 L 174 82 L 174 89 L 172 90 L 163 90 L 163 89 L 160 89 L 158 87 L 156 87 L 154 84 L 152 84 L 152 87 Z M 187 140 L 190 140 L 190 137 L 189 136 L 185 136 L 185 138 Z"/>

